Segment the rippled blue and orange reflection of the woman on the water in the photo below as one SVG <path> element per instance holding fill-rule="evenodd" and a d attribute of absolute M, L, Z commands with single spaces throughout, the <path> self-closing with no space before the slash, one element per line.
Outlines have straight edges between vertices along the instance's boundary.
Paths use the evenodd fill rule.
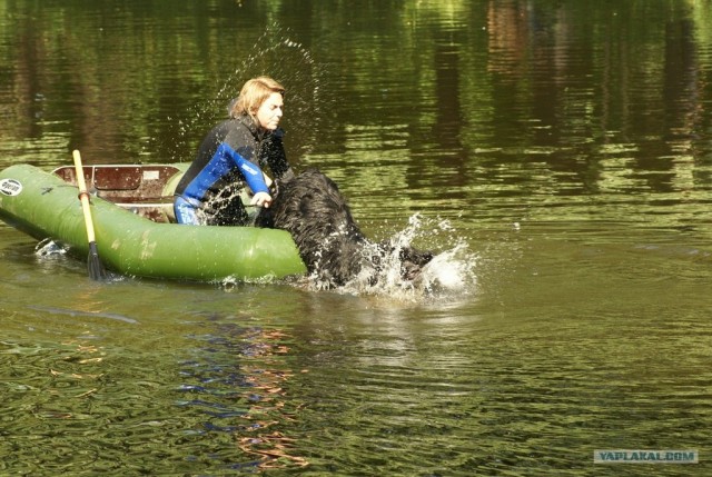
<path fill-rule="evenodd" d="M 226 468 L 306 466 L 295 454 L 289 428 L 298 420 L 299 405 L 288 396 L 290 369 L 286 355 L 291 338 L 279 329 L 243 327 L 211 319 L 215 332 L 194 336 L 204 347 L 195 360 L 181 362 L 180 391 L 190 407 L 207 416 L 199 434 L 227 433 L 249 461 L 222 461 Z M 200 456 L 188 456 L 189 460 Z"/>

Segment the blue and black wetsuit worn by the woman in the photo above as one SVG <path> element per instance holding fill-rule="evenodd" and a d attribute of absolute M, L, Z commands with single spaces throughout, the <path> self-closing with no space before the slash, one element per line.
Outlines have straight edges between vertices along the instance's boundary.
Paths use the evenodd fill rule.
<path fill-rule="evenodd" d="M 265 166 L 275 179 L 293 175 L 283 136 L 281 129 L 261 131 L 249 116 L 216 126 L 176 187 L 176 220 L 194 225 L 246 225 L 247 211 L 240 199 L 244 185 L 254 193 L 269 193 L 260 169 Z"/>

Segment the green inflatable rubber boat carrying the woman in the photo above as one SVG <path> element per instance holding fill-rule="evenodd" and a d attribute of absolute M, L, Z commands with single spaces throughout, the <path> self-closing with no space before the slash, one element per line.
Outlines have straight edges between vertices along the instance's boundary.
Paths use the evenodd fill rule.
<path fill-rule="evenodd" d="M 85 166 L 101 262 L 136 276 L 221 281 L 303 275 L 288 232 L 172 222 L 172 191 L 187 165 Z M 0 172 L 0 219 L 86 257 L 89 245 L 73 167 L 29 165 Z"/>

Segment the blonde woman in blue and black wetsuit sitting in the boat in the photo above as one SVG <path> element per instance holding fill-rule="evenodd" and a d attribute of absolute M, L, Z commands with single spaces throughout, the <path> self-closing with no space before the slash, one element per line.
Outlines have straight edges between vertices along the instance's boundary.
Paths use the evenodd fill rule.
<path fill-rule="evenodd" d="M 271 196 L 260 167 L 268 166 L 275 179 L 294 176 L 279 129 L 284 92 L 268 77 L 243 86 L 230 119 L 208 132 L 176 187 L 174 209 L 179 223 L 246 225 L 248 215 L 240 198 L 245 182 L 254 193 L 250 203 L 269 207 Z"/>

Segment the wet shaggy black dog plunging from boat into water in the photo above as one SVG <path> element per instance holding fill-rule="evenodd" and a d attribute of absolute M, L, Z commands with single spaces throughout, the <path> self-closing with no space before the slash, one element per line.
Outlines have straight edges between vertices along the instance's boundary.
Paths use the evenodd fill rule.
<path fill-rule="evenodd" d="M 310 275 L 327 287 L 342 286 L 360 274 L 377 281 L 384 260 L 396 250 L 387 242 L 374 244 L 362 233 L 336 183 L 317 169 L 307 169 L 278 182 L 269 209 L 263 209 L 258 227 L 287 230 Z M 429 251 L 400 247 L 400 276 L 416 278 L 433 259 Z"/>

